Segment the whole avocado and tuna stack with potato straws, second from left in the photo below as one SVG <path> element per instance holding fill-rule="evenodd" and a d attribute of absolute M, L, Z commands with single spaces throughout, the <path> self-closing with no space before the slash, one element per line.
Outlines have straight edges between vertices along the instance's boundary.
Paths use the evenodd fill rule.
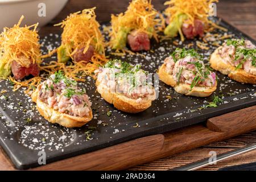
<path fill-rule="evenodd" d="M 101 35 L 94 9 L 96 8 L 71 14 L 55 25 L 63 28 L 61 46 L 57 48 L 59 63 L 67 63 L 71 59 L 89 63 L 88 69 L 105 63 L 104 37 Z"/>

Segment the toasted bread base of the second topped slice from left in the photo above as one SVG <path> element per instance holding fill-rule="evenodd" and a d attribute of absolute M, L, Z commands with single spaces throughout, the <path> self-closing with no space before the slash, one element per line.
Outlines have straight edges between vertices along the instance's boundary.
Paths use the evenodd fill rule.
<path fill-rule="evenodd" d="M 105 101 L 113 104 L 115 108 L 125 111 L 126 113 L 139 113 L 151 106 L 152 100 L 142 99 L 141 102 L 136 102 L 136 100 L 126 97 L 123 94 L 110 92 L 110 89 L 103 84 L 100 84 L 98 81 L 96 81 L 96 86 L 98 93 L 101 94 L 101 97 L 104 98 Z"/>

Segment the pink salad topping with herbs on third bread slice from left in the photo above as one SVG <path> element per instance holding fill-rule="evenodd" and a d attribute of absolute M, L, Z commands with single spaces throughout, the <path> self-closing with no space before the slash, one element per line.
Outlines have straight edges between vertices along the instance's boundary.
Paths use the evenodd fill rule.
<path fill-rule="evenodd" d="M 204 65 L 201 56 L 194 49 L 177 48 L 170 57 L 164 60 L 166 72 L 179 83 L 194 86 L 213 86 L 216 73 Z"/>

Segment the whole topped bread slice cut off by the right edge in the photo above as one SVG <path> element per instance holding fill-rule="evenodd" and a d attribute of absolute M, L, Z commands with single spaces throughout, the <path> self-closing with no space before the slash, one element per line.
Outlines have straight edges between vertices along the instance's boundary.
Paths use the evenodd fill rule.
<path fill-rule="evenodd" d="M 238 82 L 256 84 L 256 46 L 250 40 L 229 39 L 212 53 L 210 66 Z"/>

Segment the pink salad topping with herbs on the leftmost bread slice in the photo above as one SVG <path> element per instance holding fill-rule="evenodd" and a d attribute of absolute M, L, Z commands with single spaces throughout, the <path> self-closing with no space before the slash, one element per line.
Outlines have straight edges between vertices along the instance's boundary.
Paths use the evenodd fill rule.
<path fill-rule="evenodd" d="M 75 117 L 88 116 L 92 105 L 85 90 L 79 89 L 77 82 L 61 71 L 42 82 L 39 99 L 60 113 Z"/>

